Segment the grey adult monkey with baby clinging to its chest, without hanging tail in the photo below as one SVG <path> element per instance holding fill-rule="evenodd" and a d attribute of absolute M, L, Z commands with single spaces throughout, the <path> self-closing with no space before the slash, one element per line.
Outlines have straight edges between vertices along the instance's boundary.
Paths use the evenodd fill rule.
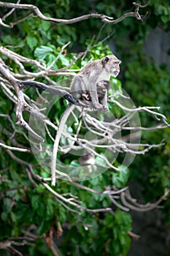
<path fill-rule="evenodd" d="M 80 104 L 85 103 L 90 108 L 107 112 L 109 79 L 111 76 L 117 77 L 120 72 L 120 63 L 121 61 L 115 55 L 108 55 L 104 59 L 88 63 L 72 81 L 72 97 Z"/>

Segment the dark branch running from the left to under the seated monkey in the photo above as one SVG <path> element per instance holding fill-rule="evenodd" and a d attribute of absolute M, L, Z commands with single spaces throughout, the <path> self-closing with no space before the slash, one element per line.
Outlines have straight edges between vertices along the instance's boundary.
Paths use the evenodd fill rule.
<path fill-rule="evenodd" d="M 69 102 L 71 102 L 74 105 L 80 105 L 82 107 L 85 107 L 86 105 L 81 104 L 80 102 L 77 101 L 77 99 L 74 99 L 69 92 L 62 90 L 62 89 L 57 89 L 51 86 L 47 86 L 45 83 L 39 83 L 35 81 L 17 81 L 17 83 L 20 85 L 21 89 L 26 89 L 26 87 L 36 87 L 40 88 L 43 91 L 50 92 L 52 94 L 57 94 L 63 96 L 65 99 L 67 99 Z"/>

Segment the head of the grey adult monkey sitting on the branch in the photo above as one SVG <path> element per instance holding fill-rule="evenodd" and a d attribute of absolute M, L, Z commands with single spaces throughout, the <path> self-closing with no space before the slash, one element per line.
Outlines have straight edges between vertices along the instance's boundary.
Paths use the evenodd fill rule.
<path fill-rule="evenodd" d="M 114 78 L 117 77 L 117 75 L 120 72 L 120 63 L 121 61 L 119 59 L 117 59 L 117 57 L 115 55 L 107 55 L 106 57 L 104 57 L 104 59 L 102 59 L 102 64 L 104 69 Z"/>

